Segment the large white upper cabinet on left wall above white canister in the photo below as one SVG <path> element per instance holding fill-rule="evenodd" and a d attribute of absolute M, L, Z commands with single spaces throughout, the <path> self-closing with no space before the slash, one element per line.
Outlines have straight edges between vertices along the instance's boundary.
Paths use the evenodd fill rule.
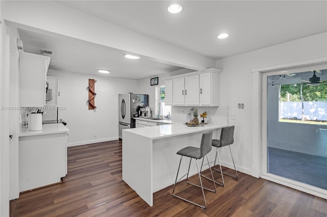
<path fill-rule="evenodd" d="M 50 57 L 34 53 L 19 53 L 19 106 L 45 105 L 46 72 Z"/>

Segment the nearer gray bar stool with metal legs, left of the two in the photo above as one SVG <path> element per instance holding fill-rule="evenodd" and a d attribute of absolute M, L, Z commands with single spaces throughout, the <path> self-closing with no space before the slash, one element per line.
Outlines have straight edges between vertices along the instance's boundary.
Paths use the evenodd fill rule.
<path fill-rule="evenodd" d="M 177 171 L 177 175 L 176 175 L 176 180 L 175 180 L 175 184 L 174 184 L 174 189 L 173 189 L 173 197 L 176 197 L 176 198 L 179 198 L 179 199 L 182 199 L 186 202 L 189 202 L 189 203 L 192 203 L 194 205 L 197 205 L 197 206 L 200 206 L 201 208 L 203 209 L 206 209 L 206 201 L 205 201 L 205 196 L 204 196 L 204 191 L 203 189 L 206 189 L 207 191 L 211 191 L 211 192 L 214 192 L 216 193 L 216 184 L 215 184 L 215 181 L 214 180 L 214 175 L 213 175 L 213 172 L 211 170 L 211 167 L 210 167 L 210 164 L 209 164 L 209 159 L 208 159 L 208 156 L 207 154 L 211 151 L 212 149 L 212 138 L 213 138 L 213 130 L 210 130 L 208 132 L 205 132 L 202 134 L 202 139 L 201 139 L 201 146 L 200 148 L 196 148 L 196 147 L 186 147 L 186 148 L 183 148 L 181 150 L 179 150 L 177 152 L 177 154 L 181 155 L 180 156 L 180 161 L 179 161 L 179 166 L 178 166 L 178 171 Z M 179 172 L 179 168 L 180 168 L 180 163 L 182 161 L 182 157 L 185 156 L 185 157 L 190 157 L 190 165 L 189 165 L 189 170 L 188 170 L 188 173 L 186 173 L 185 175 L 183 175 L 180 179 L 178 179 L 177 181 L 177 177 L 178 177 L 178 172 Z M 212 189 L 208 189 L 208 188 L 205 188 L 203 187 L 202 185 L 202 180 L 201 180 L 201 170 L 202 170 L 202 166 L 203 166 L 203 161 L 204 161 L 204 156 L 206 156 L 206 159 L 208 161 L 208 165 L 209 165 L 209 168 L 210 168 L 210 172 L 211 172 L 211 176 L 212 176 L 212 181 L 214 183 L 214 186 L 215 186 L 215 190 L 212 190 Z M 198 169 L 198 175 L 199 175 L 199 179 L 200 179 L 200 185 L 197 185 L 197 184 L 193 184 L 193 183 L 190 183 L 188 181 L 188 178 L 189 178 L 189 172 L 190 172 L 190 167 L 191 167 L 191 161 L 192 161 L 192 158 L 195 159 L 195 162 L 196 162 L 196 166 L 197 166 L 197 169 Z M 202 164 L 201 164 L 201 169 L 199 170 L 199 165 L 198 165 L 198 159 L 202 159 Z M 175 195 L 175 187 L 176 187 L 176 183 L 179 182 L 182 178 L 184 178 L 186 176 L 186 183 L 188 184 L 192 184 L 194 186 L 197 186 L 197 187 L 201 187 L 202 189 L 202 195 L 203 195 L 203 200 L 204 200 L 204 206 L 201 206 L 197 203 L 194 203 L 192 201 L 189 201 L 189 200 L 186 200 L 182 197 L 179 197 L 177 195 Z"/>

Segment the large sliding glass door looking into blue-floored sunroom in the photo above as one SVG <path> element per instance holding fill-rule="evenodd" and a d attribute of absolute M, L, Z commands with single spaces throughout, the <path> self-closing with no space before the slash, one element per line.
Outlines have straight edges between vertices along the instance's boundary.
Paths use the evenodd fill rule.
<path fill-rule="evenodd" d="M 263 73 L 263 173 L 319 191 L 327 189 L 327 70 L 308 69 Z"/>

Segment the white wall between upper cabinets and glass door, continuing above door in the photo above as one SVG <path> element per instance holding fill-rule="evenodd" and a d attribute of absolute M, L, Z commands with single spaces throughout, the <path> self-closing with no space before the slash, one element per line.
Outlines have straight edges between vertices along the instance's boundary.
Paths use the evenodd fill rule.
<path fill-rule="evenodd" d="M 327 55 L 326 39 L 327 33 L 322 33 L 216 61 L 216 68 L 223 70 L 220 74 L 221 104 L 228 105 L 228 114 L 236 114 L 237 117 L 237 120 L 228 120 L 229 125 L 236 127 L 234 138 L 234 146 L 238 151 L 235 157 L 236 165 L 251 170 L 252 143 L 258 140 L 252 137 L 254 119 L 252 110 L 255 98 L 252 95 L 252 86 L 255 84 L 251 68 Z M 244 103 L 243 110 L 238 109 L 240 102 Z M 227 151 L 225 150 L 226 153 Z M 224 155 L 222 159 L 230 161 Z"/>

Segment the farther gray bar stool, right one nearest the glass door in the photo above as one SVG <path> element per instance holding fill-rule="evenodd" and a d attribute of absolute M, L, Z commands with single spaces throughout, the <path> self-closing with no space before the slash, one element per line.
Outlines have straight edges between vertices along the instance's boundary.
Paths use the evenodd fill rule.
<path fill-rule="evenodd" d="M 221 128 L 220 140 L 213 140 L 212 141 L 212 146 L 217 147 L 217 153 L 216 153 L 216 157 L 215 157 L 214 170 L 221 173 L 221 178 L 222 178 L 223 183 L 221 184 L 221 183 L 219 183 L 217 181 L 215 181 L 215 182 L 217 184 L 221 185 L 221 186 L 224 186 L 224 184 L 225 184 L 223 173 L 226 174 L 226 175 L 228 175 L 228 176 L 231 176 L 231 177 L 233 177 L 235 179 L 238 179 L 238 174 L 237 174 L 237 170 L 236 170 L 236 167 L 235 167 L 235 162 L 234 162 L 234 159 L 233 159 L 233 155 L 231 154 L 231 150 L 230 150 L 230 145 L 234 143 L 234 129 L 235 129 L 235 126 L 228 126 L 228 127 Z M 221 169 L 218 148 L 221 148 L 221 147 L 224 147 L 224 146 L 227 146 L 227 145 L 229 147 L 229 151 L 230 151 L 230 155 L 231 155 L 231 160 L 233 161 L 233 165 L 234 165 L 236 176 L 233 176 L 233 175 L 230 175 L 228 173 L 225 173 Z M 218 169 L 215 168 L 215 166 L 216 166 L 216 160 L 217 160 L 217 155 L 218 155 L 220 170 L 218 170 Z M 211 180 L 211 179 L 209 179 L 209 180 Z"/>

